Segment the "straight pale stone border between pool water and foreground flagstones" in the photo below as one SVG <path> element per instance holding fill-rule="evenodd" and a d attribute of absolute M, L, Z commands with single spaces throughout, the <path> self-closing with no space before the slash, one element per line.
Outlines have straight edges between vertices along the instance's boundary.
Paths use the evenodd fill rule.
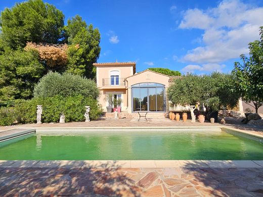
<path fill-rule="evenodd" d="M 263 168 L 263 160 L 2 160 L 0 168 Z"/>

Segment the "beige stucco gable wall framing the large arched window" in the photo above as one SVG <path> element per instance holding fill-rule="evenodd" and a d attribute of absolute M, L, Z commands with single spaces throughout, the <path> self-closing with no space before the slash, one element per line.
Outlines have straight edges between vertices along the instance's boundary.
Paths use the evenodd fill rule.
<path fill-rule="evenodd" d="M 158 74 L 151 71 L 145 71 L 139 74 L 136 74 L 134 76 L 128 77 L 126 79 L 127 81 L 127 87 L 128 87 L 128 113 L 132 113 L 131 110 L 131 85 L 137 84 L 137 83 L 161 83 L 165 86 L 165 93 L 167 92 L 167 87 L 169 86 L 169 76 L 165 76 L 162 74 Z M 169 110 L 169 104 L 166 96 L 166 112 Z"/>

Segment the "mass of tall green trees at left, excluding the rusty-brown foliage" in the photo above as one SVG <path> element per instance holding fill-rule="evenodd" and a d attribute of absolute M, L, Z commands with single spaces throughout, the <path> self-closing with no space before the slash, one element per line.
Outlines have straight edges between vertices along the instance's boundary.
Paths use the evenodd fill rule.
<path fill-rule="evenodd" d="M 51 68 L 34 50 L 23 51 L 27 42 L 66 43 L 67 60 Z M 100 54 L 99 43 L 97 28 L 87 25 L 79 16 L 64 26 L 63 13 L 42 0 L 28 0 L 6 8 L 0 16 L 0 105 L 31 98 L 33 86 L 50 69 L 95 78 L 93 63 Z"/>

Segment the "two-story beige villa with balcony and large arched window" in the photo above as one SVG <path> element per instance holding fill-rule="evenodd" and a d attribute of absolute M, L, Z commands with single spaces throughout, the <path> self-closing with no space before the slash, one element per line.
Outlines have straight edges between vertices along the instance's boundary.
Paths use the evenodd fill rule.
<path fill-rule="evenodd" d="M 165 113 L 169 110 L 166 88 L 169 76 L 145 70 L 136 73 L 135 62 L 95 63 L 100 104 L 106 112 L 107 94 L 121 98 L 121 110 L 129 114 L 140 111 Z"/>

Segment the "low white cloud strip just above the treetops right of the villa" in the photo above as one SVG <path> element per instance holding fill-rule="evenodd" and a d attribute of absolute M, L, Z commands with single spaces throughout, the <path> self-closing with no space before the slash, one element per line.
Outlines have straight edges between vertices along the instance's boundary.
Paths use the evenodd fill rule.
<path fill-rule="evenodd" d="M 222 72 L 222 69 L 225 68 L 225 64 L 203 64 L 203 65 L 187 65 L 184 67 L 181 71 L 184 73 L 193 73 L 195 71 L 204 71 L 204 72 L 212 72 L 212 71 L 217 71 L 217 72 Z"/>

